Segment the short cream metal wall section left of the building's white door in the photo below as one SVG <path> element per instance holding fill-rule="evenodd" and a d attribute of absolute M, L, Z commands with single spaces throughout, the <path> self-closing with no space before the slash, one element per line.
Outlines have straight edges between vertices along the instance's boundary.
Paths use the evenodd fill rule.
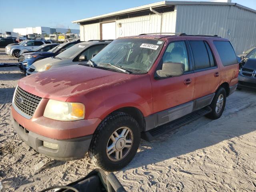
<path fill-rule="evenodd" d="M 84 39 L 82 39 L 82 35 Z M 84 25 L 84 34 L 80 30 L 80 36 L 82 41 L 100 39 L 100 23 Z"/>

